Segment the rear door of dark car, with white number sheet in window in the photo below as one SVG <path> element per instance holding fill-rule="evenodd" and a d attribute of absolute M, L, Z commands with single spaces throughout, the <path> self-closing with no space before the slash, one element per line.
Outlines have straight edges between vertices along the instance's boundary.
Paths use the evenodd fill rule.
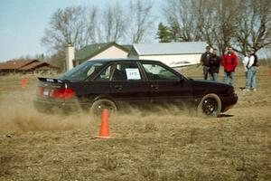
<path fill-rule="evenodd" d="M 137 62 L 116 62 L 110 95 L 117 102 L 131 105 L 150 102 L 150 87 Z"/>

